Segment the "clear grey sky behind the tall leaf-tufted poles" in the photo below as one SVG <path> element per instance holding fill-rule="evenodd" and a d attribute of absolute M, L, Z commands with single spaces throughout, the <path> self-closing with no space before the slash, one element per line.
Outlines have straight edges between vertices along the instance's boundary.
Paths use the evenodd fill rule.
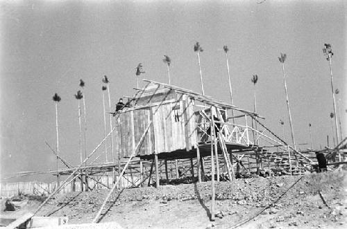
<path fill-rule="evenodd" d="M 323 44 L 334 55 L 332 72 L 340 93 L 339 114 L 346 136 L 346 3 L 344 1 L 1 1 L 1 175 L 56 167 L 46 147 L 56 147 L 54 93 L 58 105 L 60 154 L 79 161 L 78 102 L 85 81 L 87 152 L 103 138 L 101 79 L 108 75 L 112 107 L 133 95 L 135 66 L 144 78 L 167 82 L 163 55 L 169 55 L 171 83 L 200 92 L 194 43 L 200 42 L 205 94 L 229 102 L 223 45 L 228 45 L 234 103 L 253 109 L 285 138 L 290 129 L 282 82 L 285 62 L 294 133 L 301 149 L 332 141 L 330 70 Z M 142 82 L 143 86 L 144 83 Z M 289 140 L 290 141 L 290 140 Z M 62 167 L 62 165 L 60 165 Z M 35 177 L 28 177 L 33 180 Z"/>

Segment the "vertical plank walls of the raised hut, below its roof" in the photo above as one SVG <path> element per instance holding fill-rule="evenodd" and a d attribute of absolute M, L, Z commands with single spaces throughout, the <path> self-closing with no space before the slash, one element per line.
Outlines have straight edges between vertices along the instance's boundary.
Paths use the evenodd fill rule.
<path fill-rule="evenodd" d="M 153 106 L 150 106 L 150 102 L 149 107 L 124 110 L 120 114 L 116 122 L 115 149 L 122 158 L 130 157 L 152 119 L 153 125 L 139 146 L 137 156 L 194 147 L 197 141 L 194 100 L 187 95 L 166 92 L 170 95 L 168 100 L 163 100 L 164 93 L 151 95 L 150 101 L 156 103 Z M 165 103 L 158 104 L 157 97 Z M 146 98 L 149 99 L 149 95 Z"/>

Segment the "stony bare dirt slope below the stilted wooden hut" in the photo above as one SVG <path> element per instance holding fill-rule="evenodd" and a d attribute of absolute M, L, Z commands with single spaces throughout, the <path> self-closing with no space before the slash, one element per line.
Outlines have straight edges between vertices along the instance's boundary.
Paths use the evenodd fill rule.
<path fill-rule="evenodd" d="M 124 228 L 347 228 L 346 175 L 325 172 L 216 182 L 214 222 L 210 182 L 126 189 L 115 192 L 101 223 L 117 221 Z M 37 216 L 90 223 L 107 194 L 108 190 L 59 194 Z M 1 212 L 1 217 L 19 216 L 40 203 L 21 202 L 12 202 L 22 206 Z"/>

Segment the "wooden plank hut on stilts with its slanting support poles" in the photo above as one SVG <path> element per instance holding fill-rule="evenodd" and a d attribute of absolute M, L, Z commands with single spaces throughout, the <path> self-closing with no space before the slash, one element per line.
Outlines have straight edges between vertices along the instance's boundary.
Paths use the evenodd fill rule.
<path fill-rule="evenodd" d="M 68 177 L 46 201 L 76 177 L 85 174 L 89 178 L 85 190 L 95 187 L 110 189 L 93 220 L 96 223 L 112 192 L 117 187 L 126 186 L 121 185 L 124 179 L 130 184 L 128 187 L 138 187 L 144 183 L 154 183 L 159 187 L 163 180 L 167 183 L 170 177 L 180 178 L 187 174 L 188 167 L 191 176 L 197 176 L 198 182 L 206 178 L 212 181 L 211 220 L 214 220 L 214 180 L 219 181 L 223 176 L 228 181 L 235 181 L 241 174 L 255 171 L 260 174 L 260 170 L 268 170 L 268 174 L 278 170 L 284 174 L 295 174 L 294 171 L 304 170 L 305 165 L 312 162 L 273 134 L 260 122 L 262 117 L 256 113 L 178 86 L 144 81 L 147 82 L 146 86 L 137 89 L 124 109 L 115 113 L 115 127 L 85 161 L 78 167 L 65 164 L 66 169 L 53 172 Z M 257 129 L 248 125 L 252 122 L 257 122 Z M 94 164 L 95 159 L 87 164 L 86 161 L 97 154 L 99 147 L 111 134 L 115 138 L 118 162 Z M 295 158 L 304 166 L 292 165 L 292 162 L 296 162 Z M 60 160 L 63 161 L 62 158 Z M 182 166 L 178 168 L 181 163 Z M 165 179 L 160 179 L 162 166 Z M 117 181 L 108 187 L 108 182 L 103 182 L 101 176 L 113 171 L 117 173 Z M 92 188 L 88 187 L 91 183 L 94 183 Z"/>

